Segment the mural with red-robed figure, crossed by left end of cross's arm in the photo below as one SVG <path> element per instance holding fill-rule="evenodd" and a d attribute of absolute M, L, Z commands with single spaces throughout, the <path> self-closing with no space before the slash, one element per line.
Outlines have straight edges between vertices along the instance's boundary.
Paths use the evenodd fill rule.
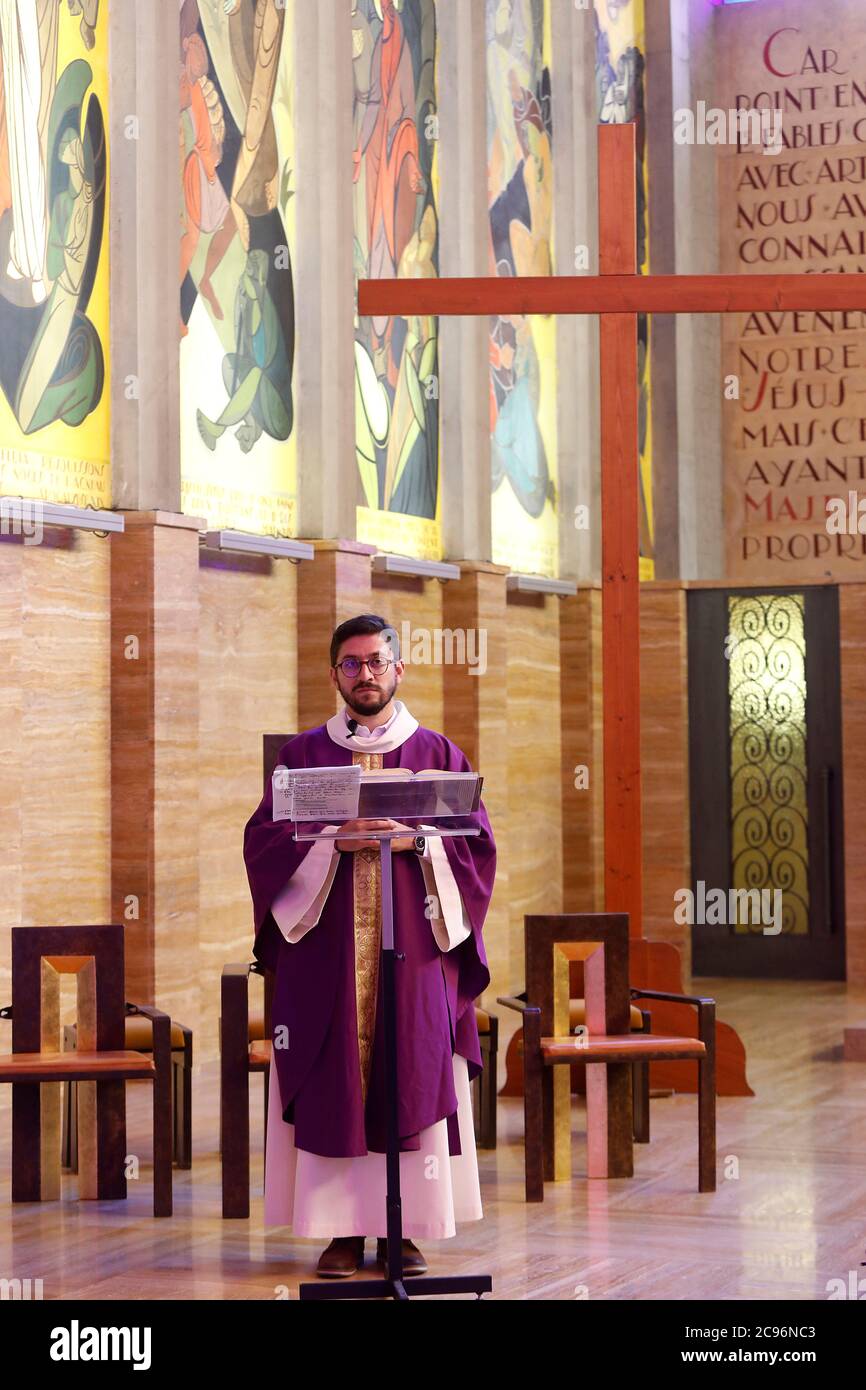
<path fill-rule="evenodd" d="M 350 0 L 356 279 L 439 272 L 434 0 Z M 442 555 L 438 320 L 356 318 L 357 538 Z"/>

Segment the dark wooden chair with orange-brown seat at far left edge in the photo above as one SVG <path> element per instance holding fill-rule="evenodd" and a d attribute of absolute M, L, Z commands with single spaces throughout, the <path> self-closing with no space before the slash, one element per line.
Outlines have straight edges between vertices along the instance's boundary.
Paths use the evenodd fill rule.
<path fill-rule="evenodd" d="M 60 976 L 76 976 L 78 1040 L 61 1049 Z M 8 1011 L 4 1011 L 8 1013 Z M 126 1197 L 128 1080 L 153 1086 L 153 1213 L 171 1216 L 171 1020 L 138 1005 L 153 1054 L 124 1049 L 124 929 L 13 927 L 13 1201 L 60 1197 L 60 1086 L 78 1083 L 79 1197 Z"/>

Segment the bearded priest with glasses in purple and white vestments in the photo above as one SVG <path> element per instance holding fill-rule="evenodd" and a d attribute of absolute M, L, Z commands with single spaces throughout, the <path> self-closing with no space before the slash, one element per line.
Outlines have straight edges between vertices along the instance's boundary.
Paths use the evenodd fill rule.
<path fill-rule="evenodd" d="M 343 709 L 291 738 L 279 763 L 363 770 L 470 771 L 466 755 L 396 699 L 396 631 L 361 614 L 331 639 Z M 446 1238 L 481 1218 L 470 1081 L 481 1072 L 475 998 L 489 972 L 481 929 L 496 866 L 484 809 L 439 823 L 481 834 L 434 838 L 424 826 L 353 820 L 307 828 L 405 830 L 393 851 L 396 1038 L 403 1265 L 427 1269 L 411 1237 Z M 254 955 L 275 972 L 265 1225 L 327 1238 L 317 1272 L 353 1275 L 364 1240 L 385 1264 L 386 1093 L 381 863 L 375 840 L 293 840 L 267 790 L 245 831 Z"/>

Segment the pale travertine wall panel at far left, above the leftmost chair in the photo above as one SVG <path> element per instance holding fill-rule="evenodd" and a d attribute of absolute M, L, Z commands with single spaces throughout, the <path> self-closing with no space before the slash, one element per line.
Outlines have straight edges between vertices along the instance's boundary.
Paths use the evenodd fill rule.
<path fill-rule="evenodd" d="M 108 545 L 0 542 L 3 1004 L 10 927 L 108 920 Z"/>

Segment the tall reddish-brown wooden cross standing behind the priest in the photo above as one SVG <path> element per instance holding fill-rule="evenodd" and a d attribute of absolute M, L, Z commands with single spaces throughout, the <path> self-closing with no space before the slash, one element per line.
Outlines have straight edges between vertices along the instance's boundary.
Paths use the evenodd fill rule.
<path fill-rule="evenodd" d="M 601 125 L 599 275 L 361 281 L 359 313 L 599 314 L 605 908 L 641 935 L 638 314 L 866 310 L 865 275 L 638 275 L 634 125 Z"/>

